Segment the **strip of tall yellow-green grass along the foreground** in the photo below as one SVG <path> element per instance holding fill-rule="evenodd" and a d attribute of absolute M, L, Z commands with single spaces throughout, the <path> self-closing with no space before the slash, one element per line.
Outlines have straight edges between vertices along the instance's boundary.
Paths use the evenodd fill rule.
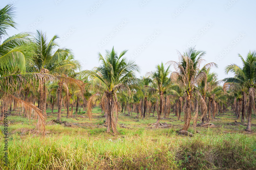
<path fill-rule="evenodd" d="M 214 169 L 256 166 L 255 136 L 220 133 L 181 137 L 172 130 L 123 130 L 111 136 L 14 135 L 9 141 L 9 167 L 1 169 Z M 3 146 L 1 146 L 1 157 Z"/>

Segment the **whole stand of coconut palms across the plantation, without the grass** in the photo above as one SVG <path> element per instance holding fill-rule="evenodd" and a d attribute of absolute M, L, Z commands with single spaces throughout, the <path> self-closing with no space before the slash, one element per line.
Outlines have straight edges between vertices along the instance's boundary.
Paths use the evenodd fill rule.
<path fill-rule="evenodd" d="M 199 116 L 202 124 L 209 123 L 231 106 L 237 118 L 242 112 L 241 122 L 248 118 L 246 130 L 251 130 L 256 95 L 255 51 L 250 51 L 245 59 L 239 55 L 242 67 L 227 66 L 225 72 L 234 73 L 234 77 L 222 81 L 211 71 L 217 64 L 203 64 L 206 53 L 195 47 L 178 52 L 178 61 L 158 64 L 154 71 L 139 78 L 135 74 L 140 72 L 140 67 L 125 57 L 127 50 L 118 54 L 114 47 L 105 56 L 98 54 L 100 66 L 81 70 L 72 50 L 58 46 L 57 35 L 48 39 L 46 33 L 38 30 L 8 37 L 8 29 L 17 27 L 14 17 L 12 5 L 0 10 L 2 121 L 4 110 L 22 108 L 23 116 L 37 120 L 36 128 L 44 132 L 48 106 L 52 112 L 55 106 L 58 108 L 56 121 L 61 122 L 62 108 L 67 110 L 66 117 L 72 117 L 74 107 L 76 114 L 79 106 L 83 107 L 91 120 L 92 108 L 100 105 L 108 133 L 118 133 L 118 115 L 126 110 L 128 115 L 137 112 L 141 119 L 156 111 L 156 124 L 171 111 L 181 120 L 184 112 L 181 130 L 187 131 L 192 115 L 195 129 Z M 175 71 L 170 71 L 171 66 Z"/>

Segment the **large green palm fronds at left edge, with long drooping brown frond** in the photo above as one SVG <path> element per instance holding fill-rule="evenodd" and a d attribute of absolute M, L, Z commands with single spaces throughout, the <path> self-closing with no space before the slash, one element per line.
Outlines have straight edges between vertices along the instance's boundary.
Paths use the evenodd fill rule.
<path fill-rule="evenodd" d="M 41 111 L 33 103 L 12 95 L 12 91 L 17 90 L 19 86 L 27 82 L 38 81 L 43 77 L 47 79 L 48 76 L 26 72 L 31 56 L 34 55 L 29 34 L 19 33 L 3 40 L 3 37 L 7 36 L 9 28 L 16 28 L 17 24 L 14 22 L 14 18 L 15 8 L 12 5 L 6 5 L 0 9 L 0 97 L 4 101 L 5 107 L 10 106 L 12 102 L 20 103 L 28 113 L 37 114 L 37 127 L 42 127 L 45 130 L 45 118 Z M 2 118 L 3 110 L 1 110 L 0 119 Z"/>

